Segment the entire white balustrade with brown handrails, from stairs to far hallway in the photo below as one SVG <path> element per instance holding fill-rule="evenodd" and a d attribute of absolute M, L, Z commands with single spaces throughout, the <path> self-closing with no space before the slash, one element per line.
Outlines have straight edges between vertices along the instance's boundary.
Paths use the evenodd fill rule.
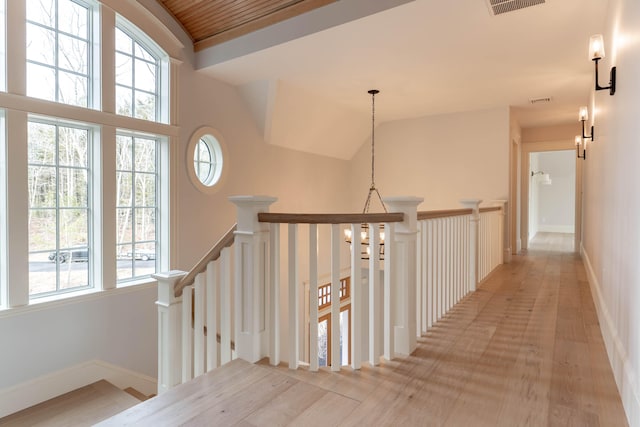
<path fill-rule="evenodd" d="M 318 270 L 323 260 L 330 260 L 324 263 L 323 275 L 330 277 L 332 295 L 339 294 L 345 270 L 350 276 L 349 345 L 354 369 L 364 361 L 377 365 L 381 357 L 410 354 L 416 337 L 502 262 L 504 209 L 480 209 L 477 200 L 464 201 L 466 209 L 418 213 L 421 199 L 390 198 L 385 199 L 392 212 L 388 214 L 270 213 L 274 198 L 230 200 L 238 208 L 237 226 L 189 273 L 156 276 L 159 393 L 234 356 L 250 362 L 268 357 L 271 364 L 279 364 L 281 348 L 290 368 L 304 362 L 311 371 L 318 370 L 315 338 L 322 287 Z M 283 224 L 286 227 L 281 228 Z M 374 254 L 366 260 L 362 251 L 350 250 L 343 236 L 349 229 L 351 247 L 361 247 L 363 224 Z M 384 260 L 376 256 L 381 230 Z M 282 248 L 281 233 L 287 242 Z M 328 247 L 320 250 L 319 241 Z M 308 259 L 301 260 L 302 253 Z M 286 267 L 282 272 L 281 265 Z M 304 280 L 308 287 L 302 285 L 301 276 L 308 278 Z M 309 294 L 303 298 L 305 289 Z M 282 324 L 281 290 L 286 291 L 288 304 Z M 302 301 L 307 301 L 305 306 Z M 342 365 L 340 303 L 340 298 L 330 303 L 333 371 Z M 301 333 L 305 319 L 308 335 Z M 281 327 L 287 333 L 286 344 L 280 340 Z M 219 331 L 220 338 L 207 329 Z M 301 357 L 301 349 L 308 356 Z"/>

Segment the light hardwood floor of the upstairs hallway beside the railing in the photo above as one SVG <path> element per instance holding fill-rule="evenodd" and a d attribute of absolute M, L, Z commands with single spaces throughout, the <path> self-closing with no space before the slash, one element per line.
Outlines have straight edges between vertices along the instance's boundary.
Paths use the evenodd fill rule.
<path fill-rule="evenodd" d="M 557 249 L 557 248 L 556 248 Z M 340 373 L 236 360 L 101 425 L 625 426 L 579 257 L 499 267 L 413 355 Z"/>

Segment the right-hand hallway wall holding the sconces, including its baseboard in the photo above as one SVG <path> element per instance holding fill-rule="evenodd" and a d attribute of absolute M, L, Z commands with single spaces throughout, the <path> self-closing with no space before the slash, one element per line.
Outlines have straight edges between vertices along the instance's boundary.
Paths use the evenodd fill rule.
<path fill-rule="evenodd" d="M 640 426 L 640 2 L 611 0 L 600 80 L 616 65 L 618 88 L 593 94 L 596 141 L 584 162 L 583 254 L 600 327 L 631 426 Z M 587 41 L 585 40 L 585 45 Z M 585 51 L 586 55 L 586 51 Z"/>

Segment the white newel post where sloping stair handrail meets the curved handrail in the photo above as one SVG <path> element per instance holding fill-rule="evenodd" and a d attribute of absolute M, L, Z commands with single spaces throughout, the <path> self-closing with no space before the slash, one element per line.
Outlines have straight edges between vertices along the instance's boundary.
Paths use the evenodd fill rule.
<path fill-rule="evenodd" d="M 239 358 L 255 363 L 268 354 L 269 224 L 258 221 L 277 199 L 234 196 L 238 208 L 235 232 L 235 341 Z"/>

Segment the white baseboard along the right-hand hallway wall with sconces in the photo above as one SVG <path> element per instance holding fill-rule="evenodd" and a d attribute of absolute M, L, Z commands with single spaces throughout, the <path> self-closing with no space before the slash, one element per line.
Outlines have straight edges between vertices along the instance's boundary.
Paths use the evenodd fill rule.
<path fill-rule="evenodd" d="M 598 313 L 600 331 L 607 355 L 609 356 L 609 363 L 613 370 L 616 385 L 618 386 L 618 392 L 622 399 L 622 405 L 627 415 L 627 421 L 631 427 L 640 427 L 640 383 L 638 382 L 638 377 L 636 376 L 633 365 L 630 363 L 624 344 L 620 340 L 620 335 L 613 322 L 611 313 L 604 302 L 601 291 L 602 287 L 593 271 L 589 254 L 582 244 L 580 245 L 580 255 L 587 270 L 587 279 Z"/>

